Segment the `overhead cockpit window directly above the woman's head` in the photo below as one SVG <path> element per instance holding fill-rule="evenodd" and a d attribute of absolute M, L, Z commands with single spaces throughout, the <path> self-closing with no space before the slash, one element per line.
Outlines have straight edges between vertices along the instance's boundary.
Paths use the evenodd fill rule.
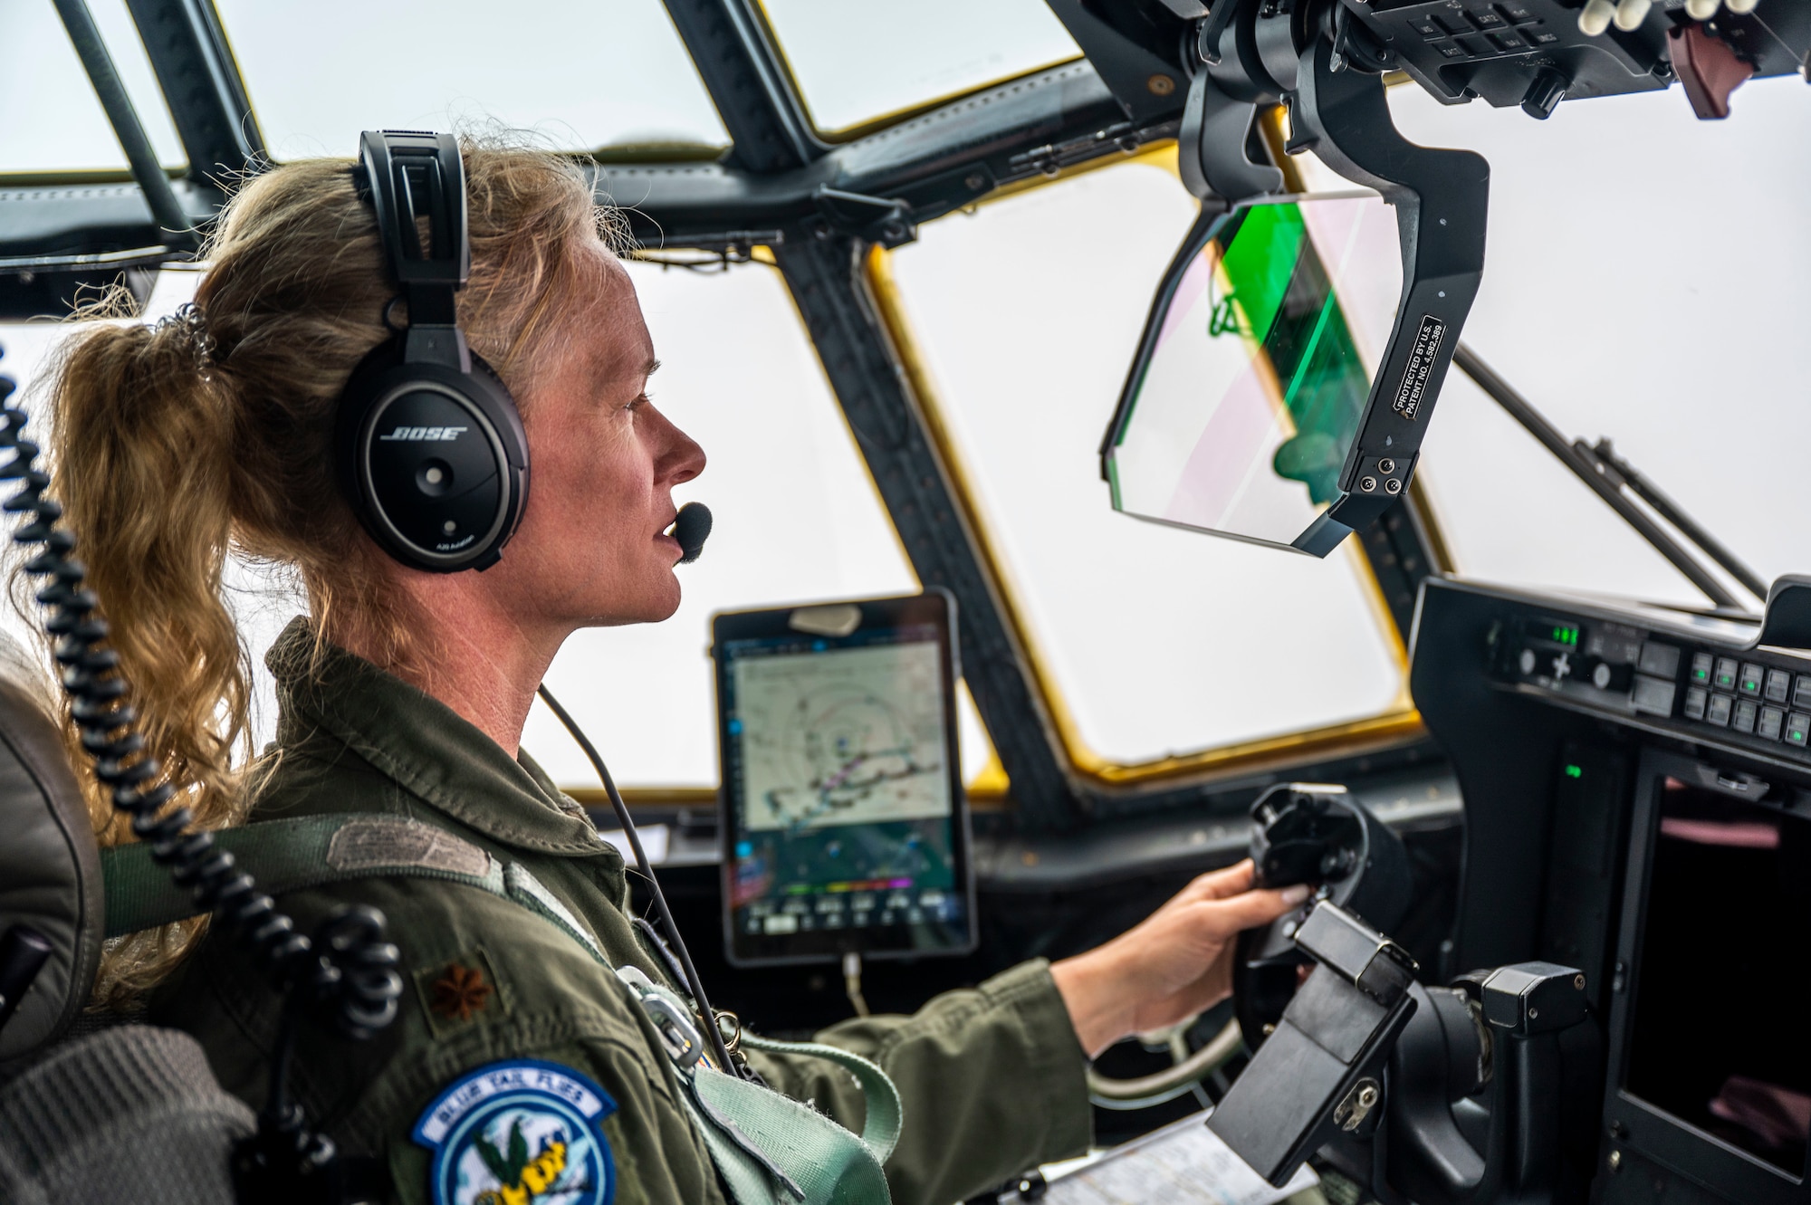
<path fill-rule="evenodd" d="M 359 130 L 529 128 L 556 150 L 728 145 L 659 0 L 216 0 L 275 159 L 350 156 Z"/>

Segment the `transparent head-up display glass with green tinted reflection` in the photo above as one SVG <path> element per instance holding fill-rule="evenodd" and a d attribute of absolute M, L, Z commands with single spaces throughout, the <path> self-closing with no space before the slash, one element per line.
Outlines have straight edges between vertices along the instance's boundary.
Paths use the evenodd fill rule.
<path fill-rule="evenodd" d="M 1413 449 L 1347 465 L 1402 291 L 1396 213 L 1373 192 L 1203 213 L 1101 449 L 1114 508 L 1326 555 L 1349 530 L 1331 507 L 1407 481 Z"/>

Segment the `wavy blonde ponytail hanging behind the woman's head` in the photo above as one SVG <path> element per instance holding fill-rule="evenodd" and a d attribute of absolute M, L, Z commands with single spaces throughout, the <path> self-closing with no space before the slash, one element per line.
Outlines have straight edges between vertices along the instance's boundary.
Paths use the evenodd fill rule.
<path fill-rule="evenodd" d="M 244 650 L 223 599 L 232 532 L 232 416 L 206 371 L 199 322 L 96 322 L 62 349 L 51 382 L 53 490 L 101 599 L 107 642 L 139 731 L 201 829 L 243 818 L 234 760 L 248 745 Z M 101 845 L 130 841 L 65 726 Z M 243 758 L 239 758 L 243 764 Z M 123 937 L 96 1002 L 159 979 L 201 921 Z"/>

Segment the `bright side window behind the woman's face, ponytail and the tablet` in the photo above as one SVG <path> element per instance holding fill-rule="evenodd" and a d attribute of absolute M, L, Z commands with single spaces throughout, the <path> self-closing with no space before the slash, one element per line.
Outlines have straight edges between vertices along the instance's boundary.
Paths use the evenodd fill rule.
<path fill-rule="evenodd" d="M 708 554 L 681 570 L 677 615 L 580 631 L 547 684 L 632 796 L 708 802 L 717 787 L 712 612 L 915 593 L 918 579 L 779 273 L 759 262 L 728 273 L 632 262 L 628 271 L 661 356 L 648 396 L 710 458 L 679 501 L 706 501 L 715 528 Z M 199 271 L 165 268 L 145 318 L 174 311 L 197 282 Z M 45 403 L 33 385 L 67 331 L 0 322 L 0 373 L 25 389 L 34 422 Z M 270 574 L 234 563 L 228 604 L 254 666 L 254 736 L 263 747 L 275 733 L 264 650 L 306 602 Z M 42 639 L 7 606 L 0 631 L 27 648 Z M 963 778 L 971 791 L 996 794 L 1005 783 L 987 731 L 967 691 L 958 704 Z M 540 706 L 522 744 L 563 787 L 596 785 L 590 764 Z"/>

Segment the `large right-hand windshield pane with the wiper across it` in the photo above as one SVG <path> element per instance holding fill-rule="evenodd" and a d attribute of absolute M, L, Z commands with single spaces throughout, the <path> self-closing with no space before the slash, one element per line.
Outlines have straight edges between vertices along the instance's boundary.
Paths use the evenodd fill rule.
<path fill-rule="evenodd" d="M 1811 568 L 1811 110 L 1793 78 L 1755 80 L 1731 105 L 1697 121 L 1677 90 L 1641 92 L 1541 123 L 1391 90 L 1407 138 L 1490 161 L 1465 344 L 1568 440 L 1608 436 L 1771 581 Z M 1706 604 L 1458 369 L 1420 481 L 1469 577 Z"/>

